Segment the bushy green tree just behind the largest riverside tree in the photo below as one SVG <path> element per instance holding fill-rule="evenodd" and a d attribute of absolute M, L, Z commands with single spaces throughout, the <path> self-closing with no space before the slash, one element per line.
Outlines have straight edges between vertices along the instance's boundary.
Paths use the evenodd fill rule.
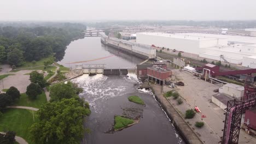
<path fill-rule="evenodd" d="M 63 98 L 70 99 L 77 96 L 77 91 L 71 82 L 57 83 L 51 86 L 50 97 L 51 101 L 61 100 Z"/>

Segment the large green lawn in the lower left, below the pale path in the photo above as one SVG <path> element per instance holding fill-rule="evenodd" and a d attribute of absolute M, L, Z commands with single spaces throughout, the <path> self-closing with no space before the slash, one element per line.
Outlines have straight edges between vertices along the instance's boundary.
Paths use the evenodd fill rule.
<path fill-rule="evenodd" d="M 35 122 L 38 122 L 36 115 L 34 116 Z M 29 128 L 33 123 L 31 110 L 7 109 L 0 118 L 0 131 L 15 131 L 17 136 L 22 137 L 28 143 L 32 143 L 29 139 Z"/>

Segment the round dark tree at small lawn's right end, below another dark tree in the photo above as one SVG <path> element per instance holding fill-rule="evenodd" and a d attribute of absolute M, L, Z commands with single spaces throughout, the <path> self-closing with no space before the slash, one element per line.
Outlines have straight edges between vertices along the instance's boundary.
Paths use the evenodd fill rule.
<path fill-rule="evenodd" d="M 29 99 L 34 100 L 37 98 L 38 94 L 41 94 L 42 90 L 40 88 L 39 85 L 37 85 L 37 83 L 33 83 L 31 82 L 30 85 L 27 86 L 27 96 Z"/>

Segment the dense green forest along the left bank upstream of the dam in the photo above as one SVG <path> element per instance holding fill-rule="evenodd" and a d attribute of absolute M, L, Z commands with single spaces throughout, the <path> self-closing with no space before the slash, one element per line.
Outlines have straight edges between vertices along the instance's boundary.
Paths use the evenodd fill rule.
<path fill-rule="evenodd" d="M 59 23 L 54 26 L 0 27 L 0 63 L 16 67 L 25 61 L 39 61 L 54 55 L 60 61 L 71 41 L 83 38 L 86 26 L 80 23 Z"/>

